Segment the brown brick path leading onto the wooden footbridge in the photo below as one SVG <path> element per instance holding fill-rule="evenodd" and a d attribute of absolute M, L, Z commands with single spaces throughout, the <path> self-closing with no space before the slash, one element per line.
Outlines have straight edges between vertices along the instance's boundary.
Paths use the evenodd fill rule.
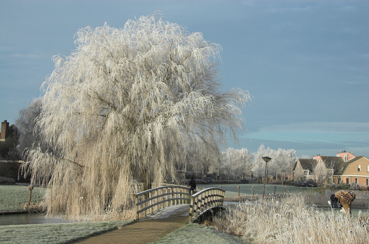
<path fill-rule="evenodd" d="M 188 223 L 188 205 L 162 209 L 121 229 L 89 237 L 75 244 L 144 244 L 151 243 Z"/>

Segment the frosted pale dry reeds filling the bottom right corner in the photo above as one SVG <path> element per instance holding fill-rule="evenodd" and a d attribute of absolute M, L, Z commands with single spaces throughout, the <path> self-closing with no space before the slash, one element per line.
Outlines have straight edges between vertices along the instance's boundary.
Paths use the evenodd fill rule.
<path fill-rule="evenodd" d="M 368 216 L 348 217 L 307 206 L 304 196 L 230 205 L 212 226 L 250 243 L 369 243 Z"/>

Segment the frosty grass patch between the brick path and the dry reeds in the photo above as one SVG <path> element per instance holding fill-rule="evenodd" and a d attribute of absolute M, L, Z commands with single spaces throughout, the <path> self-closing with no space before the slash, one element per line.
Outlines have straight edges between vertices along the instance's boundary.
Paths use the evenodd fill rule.
<path fill-rule="evenodd" d="M 242 240 L 229 234 L 221 233 L 213 227 L 189 223 L 169 233 L 166 236 L 152 242 L 151 244 L 242 244 Z"/>

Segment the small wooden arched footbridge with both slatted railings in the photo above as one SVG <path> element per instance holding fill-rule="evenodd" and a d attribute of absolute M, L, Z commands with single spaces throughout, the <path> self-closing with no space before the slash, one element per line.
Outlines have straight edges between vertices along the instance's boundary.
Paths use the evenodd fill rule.
<path fill-rule="evenodd" d="M 206 188 L 193 195 L 190 188 L 180 185 L 156 187 L 133 194 L 135 198 L 136 219 L 152 213 L 165 213 L 162 218 L 175 212 L 188 214 L 190 222 L 201 222 L 223 209 L 224 190 Z"/>

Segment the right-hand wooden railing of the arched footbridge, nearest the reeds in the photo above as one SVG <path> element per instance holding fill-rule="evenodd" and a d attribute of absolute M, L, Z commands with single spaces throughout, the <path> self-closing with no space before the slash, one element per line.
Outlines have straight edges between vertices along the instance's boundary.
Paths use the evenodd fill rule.
<path fill-rule="evenodd" d="M 189 221 L 192 222 L 198 215 L 207 209 L 223 206 L 225 191 L 220 188 L 206 188 L 190 196 Z"/>

